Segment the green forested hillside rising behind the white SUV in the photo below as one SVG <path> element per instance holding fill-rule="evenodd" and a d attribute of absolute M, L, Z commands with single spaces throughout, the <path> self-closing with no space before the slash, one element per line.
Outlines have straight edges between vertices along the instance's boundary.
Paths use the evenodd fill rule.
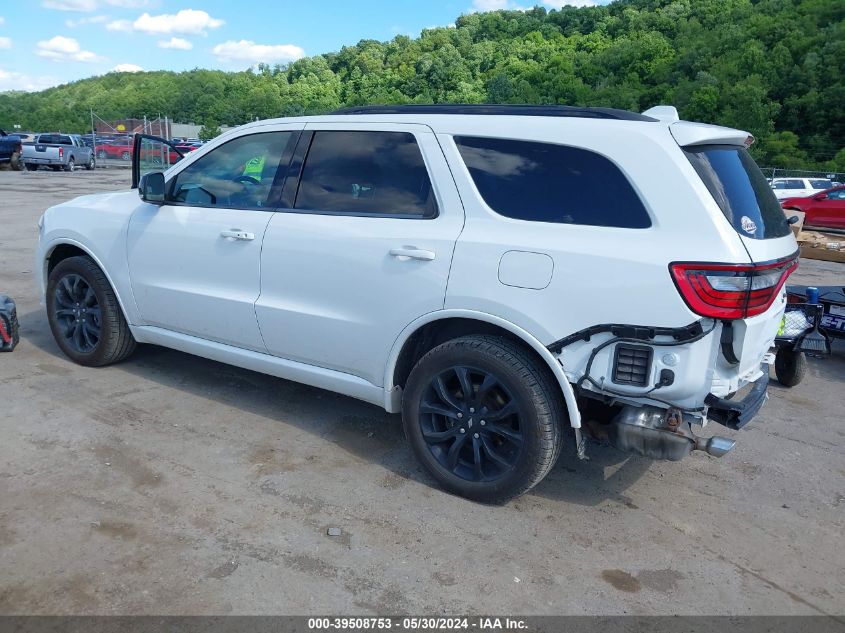
<path fill-rule="evenodd" d="M 843 0 L 617 0 L 455 26 L 285 67 L 112 73 L 0 94 L 0 126 L 83 131 L 89 108 L 237 125 L 366 103 L 668 103 L 751 131 L 761 163 L 845 171 Z"/>

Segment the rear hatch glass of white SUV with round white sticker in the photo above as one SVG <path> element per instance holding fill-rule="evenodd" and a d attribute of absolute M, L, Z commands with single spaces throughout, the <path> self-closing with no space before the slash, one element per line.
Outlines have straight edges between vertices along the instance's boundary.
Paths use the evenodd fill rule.
<path fill-rule="evenodd" d="M 783 209 L 745 148 L 703 145 L 684 153 L 737 233 L 756 240 L 789 235 Z"/>

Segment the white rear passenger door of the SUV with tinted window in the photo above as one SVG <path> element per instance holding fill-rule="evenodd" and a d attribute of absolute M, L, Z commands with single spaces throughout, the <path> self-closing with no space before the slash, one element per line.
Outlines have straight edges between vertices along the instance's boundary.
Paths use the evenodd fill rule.
<path fill-rule="evenodd" d="M 264 238 L 264 341 L 381 386 L 401 331 L 443 308 L 463 207 L 427 126 L 309 123 L 303 158 Z"/>

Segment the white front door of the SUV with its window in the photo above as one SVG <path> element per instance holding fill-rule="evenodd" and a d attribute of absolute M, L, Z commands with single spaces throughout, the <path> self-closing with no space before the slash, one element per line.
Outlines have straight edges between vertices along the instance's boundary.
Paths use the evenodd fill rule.
<path fill-rule="evenodd" d="M 167 172 L 163 205 L 133 213 L 129 273 L 145 325 L 266 351 L 254 307 L 261 242 L 301 127 L 259 128 L 267 131 L 199 150 Z M 158 155 L 141 151 L 136 164 Z"/>

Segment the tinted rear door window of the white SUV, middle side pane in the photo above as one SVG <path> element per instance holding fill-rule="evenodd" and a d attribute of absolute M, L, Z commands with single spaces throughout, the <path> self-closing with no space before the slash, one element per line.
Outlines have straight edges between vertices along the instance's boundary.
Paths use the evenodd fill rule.
<path fill-rule="evenodd" d="M 407 132 L 317 132 L 295 206 L 362 215 L 437 214 L 420 148 Z"/>

